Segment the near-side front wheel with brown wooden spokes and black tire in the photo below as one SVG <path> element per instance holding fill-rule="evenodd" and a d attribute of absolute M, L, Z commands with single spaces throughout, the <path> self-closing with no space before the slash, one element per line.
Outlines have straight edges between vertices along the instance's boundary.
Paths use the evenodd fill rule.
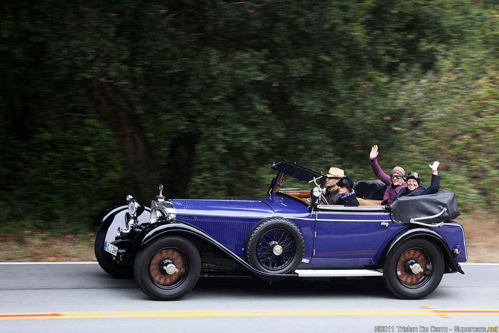
<path fill-rule="evenodd" d="M 174 272 L 167 272 L 167 265 Z M 156 301 L 175 301 L 189 293 L 201 274 L 199 251 L 181 236 L 167 236 L 139 250 L 134 264 L 140 289 Z"/>

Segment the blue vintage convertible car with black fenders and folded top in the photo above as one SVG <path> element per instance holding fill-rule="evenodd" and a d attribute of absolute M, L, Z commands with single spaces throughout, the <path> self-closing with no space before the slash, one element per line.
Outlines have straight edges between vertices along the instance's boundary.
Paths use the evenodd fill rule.
<path fill-rule="evenodd" d="M 385 185 L 361 181 L 354 189 L 362 206 L 332 206 L 321 200 L 325 174 L 289 161 L 270 168 L 277 175 L 260 199 L 166 200 L 162 186 L 150 207 L 127 196 L 95 219 L 97 261 L 160 301 L 183 297 L 201 275 L 379 277 L 399 298 L 419 299 L 444 273 L 464 274 L 453 192 L 376 206 L 369 199 L 381 198 Z M 285 188 L 289 181 L 302 186 Z"/>

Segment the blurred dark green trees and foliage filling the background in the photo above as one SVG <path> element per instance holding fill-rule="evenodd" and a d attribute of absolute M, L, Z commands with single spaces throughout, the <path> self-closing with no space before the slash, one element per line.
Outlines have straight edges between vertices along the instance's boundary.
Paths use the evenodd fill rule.
<path fill-rule="evenodd" d="M 283 158 L 371 179 L 374 144 L 497 209 L 498 1 L 344 2 L 2 2 L 0 219 L 259 197 Z"/>

